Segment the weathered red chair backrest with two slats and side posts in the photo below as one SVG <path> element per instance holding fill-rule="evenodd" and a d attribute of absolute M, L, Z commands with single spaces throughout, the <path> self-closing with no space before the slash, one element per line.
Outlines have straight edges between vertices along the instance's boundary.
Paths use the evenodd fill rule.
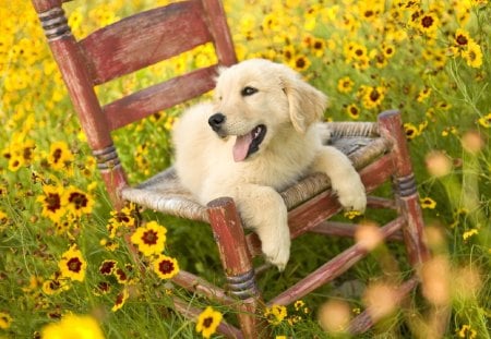
<path fill-rule="evenodd" d="M 216 68 L 237 62 L 219 0 L 190 0 L 148 10 L 76 41 L 62 9 L 67 0 L 32 0 L 97 159 L 113 204 L 127 185 L 111 131 L 214 87 Z M 101 106 L 96 85 L 212 43 L 218 64 L 194 70 Z"/>

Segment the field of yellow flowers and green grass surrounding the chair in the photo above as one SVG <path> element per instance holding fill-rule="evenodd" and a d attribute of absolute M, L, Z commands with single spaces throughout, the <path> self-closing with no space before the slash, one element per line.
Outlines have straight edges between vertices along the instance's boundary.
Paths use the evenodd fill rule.
<path fill-rule="evenodd" d="M 82 38 L 167 2 L 72 1 L 64 9 Z M 379 244 L 306 300 L 264 310 L 259 316 L 272 334 L 330 338 L 374 306 L 382 322 L 367 338 L 490 338 L 491 4 L 226 0 L 225 8 L 239 59 L 296 69 L 330 96 L 326 119 L 374 121 L 383 110 L 402 110 L 433 253 L 420 271 L 420 293 L 407 302 L 391 298 L 408 276 L 405 254 Z M 0 0 L 0 338 L 217 336 L 232 311 L 207 308 L 168 282 L 180 267 L 221 281 L 211 230 L 151 211 L 142 222 L 136 206 L 111 209 L 31 2 Z M 213 46 L 196 48 L 97 94 L 110 101 L 212 64 L 212 52 Z M 169 133 L 182 109 L 115 134 L 132 182 L 171 164 Z M 383 216 L 358 218 L 373 225 Z M 346 243 L 308 237 L 295 244 L 284 273 L 263 274 L 266 298 Z M 172 312 L 176 294 L 203 310 L 197 326 Z"/>

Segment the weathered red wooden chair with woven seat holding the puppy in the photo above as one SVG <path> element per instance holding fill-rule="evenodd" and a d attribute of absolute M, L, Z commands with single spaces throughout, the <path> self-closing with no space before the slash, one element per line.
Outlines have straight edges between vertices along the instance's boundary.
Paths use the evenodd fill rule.
<path fill-rule="evenodd" d="M 212 226 L 227 287 L 213 286 L 184 270 L 172 281 L 238 310 L 240 328 L 223 323 L 219 331 L 237 338 L 261 336 L 262 322 L 254 314 L 262 306 L 292 303 L 332 281 L 368 254 L 362 243 L 356 243 L 265 302 L 256 287 L 252 265 L 252 257 L 261 254 L 261 244 L 255 234 L 244 234 L 232 199 L 223 197 L 207 206 L 197 204 L 182 189 L 172 168 L 144 183 L 128 183 L 111 132 L 211 90 L 216 65 L 151 86 L 105 106 L 99 104 L 94 86 L 209 41 L 215 47 L 219 64 L 236 63 L 219 0 L 183 1 L 149 10 L 103 27 L 80 41 L 75 40 L 68 26 L 62 9 L 64 1 L 32 1 L 115 208 L 130 201 Z M 370 197 L 369 207 L 397 211 L 397 217 L 383 226 L 381 233 L 384 239 L 404 238 L 409 262 L 418 267 L 429 254 L 423 242 L 423 221 L 399 113 L 384 112 L 374 123 L 330 123 L 330 128 L 333 131 L 332 143 L 349 155 L 368 193 L 386 181 L 393 181 L 394 198 Z M 355 234 L 356 225 L 326 221 L 342 208 L 324 175 L 306 178 L 282 192 L 282 196 L 289 209 L 292 239 L 308 231 L 330 235 Z M 416 277 L 402 284 L 400 295 L 407 294 L 417 281 Z M 175 301 L 175 307 L 190 317 L 199 314 L 199 310 L 179 300 Z M 350 330 L 361 332 L 371 325 L 369 313 L 363 313 L 354 320 Z"/>

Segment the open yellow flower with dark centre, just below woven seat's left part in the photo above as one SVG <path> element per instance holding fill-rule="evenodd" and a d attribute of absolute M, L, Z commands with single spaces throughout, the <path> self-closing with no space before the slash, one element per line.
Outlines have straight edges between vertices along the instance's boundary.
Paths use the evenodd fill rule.
<path fill-rule="evenodd" d="M 149 221 L 140 227 L 131 235 L 131 242 L 139 246 L 145 256 L 159 254 L 164 251 L 167 229 L 156 221 Z"/>

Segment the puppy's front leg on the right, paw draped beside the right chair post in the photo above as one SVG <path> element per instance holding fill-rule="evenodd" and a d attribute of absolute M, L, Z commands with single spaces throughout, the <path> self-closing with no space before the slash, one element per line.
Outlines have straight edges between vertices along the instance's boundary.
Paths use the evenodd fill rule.
<path fill-rule="evenodd" d="M 330 177 L 343 207 L 364 211 L 367 195 L 363 183 L 344 153 L 331 146 L 321 147 L 312 169 Z"/>

